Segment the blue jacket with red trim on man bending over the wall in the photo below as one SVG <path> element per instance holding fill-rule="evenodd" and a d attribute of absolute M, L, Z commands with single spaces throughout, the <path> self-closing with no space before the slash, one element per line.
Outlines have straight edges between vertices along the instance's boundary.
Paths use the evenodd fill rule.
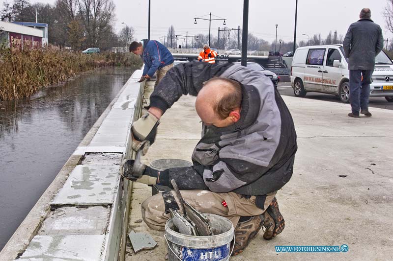
<path fill-rule="evenodd" d="M 173 63 L 172 54 L 160 42 L 147 39 L 143 39 L 141 42 L 143 44 L 143 75 L 148 74 L 150 77 L 153 77 L 157 70 Z"/>

